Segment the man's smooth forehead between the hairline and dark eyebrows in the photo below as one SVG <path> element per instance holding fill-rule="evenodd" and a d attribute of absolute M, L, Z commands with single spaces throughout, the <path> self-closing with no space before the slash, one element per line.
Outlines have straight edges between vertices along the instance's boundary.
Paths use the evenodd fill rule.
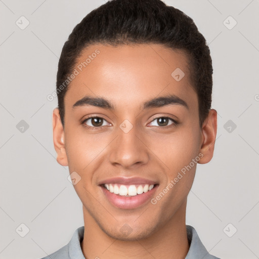
<path fill-rule="evenodd" d="M 174 94 L 197 106 L 189 59 L 180 50 L 157 44 L 119 47 L 91 45 L 74 66 L 76 76 L 65 95 L 65 107 L 83 96 L 105 97 L 115 108 L 140 105 L 151 97 Z M 194 107 L 193 107 L 194 108 Z"/>

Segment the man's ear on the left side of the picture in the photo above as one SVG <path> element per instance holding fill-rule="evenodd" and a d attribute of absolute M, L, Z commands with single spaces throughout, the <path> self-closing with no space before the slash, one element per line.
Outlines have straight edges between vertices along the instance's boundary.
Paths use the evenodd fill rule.
<path fill-rule="evenodd" d="M 53 110 L 53 142 L 54 147 L 57 152 L 57 161 L 63 166 L 67 166 L 67 154 L 65 149 L 65 133 L 64 128 L 61 123 L 59 109 L 55 108 Z"/>

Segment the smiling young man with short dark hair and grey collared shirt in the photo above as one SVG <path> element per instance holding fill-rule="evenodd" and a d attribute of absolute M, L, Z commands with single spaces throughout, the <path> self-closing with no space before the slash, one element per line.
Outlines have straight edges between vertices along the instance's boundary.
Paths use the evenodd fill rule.
<path fill-rule="evenodd" d="M 73 29 L 53 134 L 84 226 L 50 257 L 217 258 L 185 221 L 217 134 L 211 63 L 193 20 L 159 0 L 107 2 Z"/>

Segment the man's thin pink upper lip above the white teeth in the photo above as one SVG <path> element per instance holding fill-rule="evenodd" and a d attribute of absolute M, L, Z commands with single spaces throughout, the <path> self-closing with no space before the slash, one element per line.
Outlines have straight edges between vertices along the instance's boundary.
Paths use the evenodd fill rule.
<path fill-rule="evenodd" d="M 148 185 L 155 185 L 157 182 L 154 182 L 149 179 L 141 178 L 141 177 L 114 177 L 102 180 L 99 185 L 103 184 L 122 184 L 122 185 L 134 185 L 134 184 L 148 184 Z"/>

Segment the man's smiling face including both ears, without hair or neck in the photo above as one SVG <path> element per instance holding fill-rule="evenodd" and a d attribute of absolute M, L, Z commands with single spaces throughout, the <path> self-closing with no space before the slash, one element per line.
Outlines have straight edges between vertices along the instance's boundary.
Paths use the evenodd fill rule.
<path fill-rule="evenodd" d="M 155 44 L 92 45 L 75 69 L 64 129 L 54 110 L 54 144 L 84 220 L 136 240 L 185 219 L 196 164 L 211 159 L 217 128 L 215 112 L 199 127 L 188 57 Z"/>

